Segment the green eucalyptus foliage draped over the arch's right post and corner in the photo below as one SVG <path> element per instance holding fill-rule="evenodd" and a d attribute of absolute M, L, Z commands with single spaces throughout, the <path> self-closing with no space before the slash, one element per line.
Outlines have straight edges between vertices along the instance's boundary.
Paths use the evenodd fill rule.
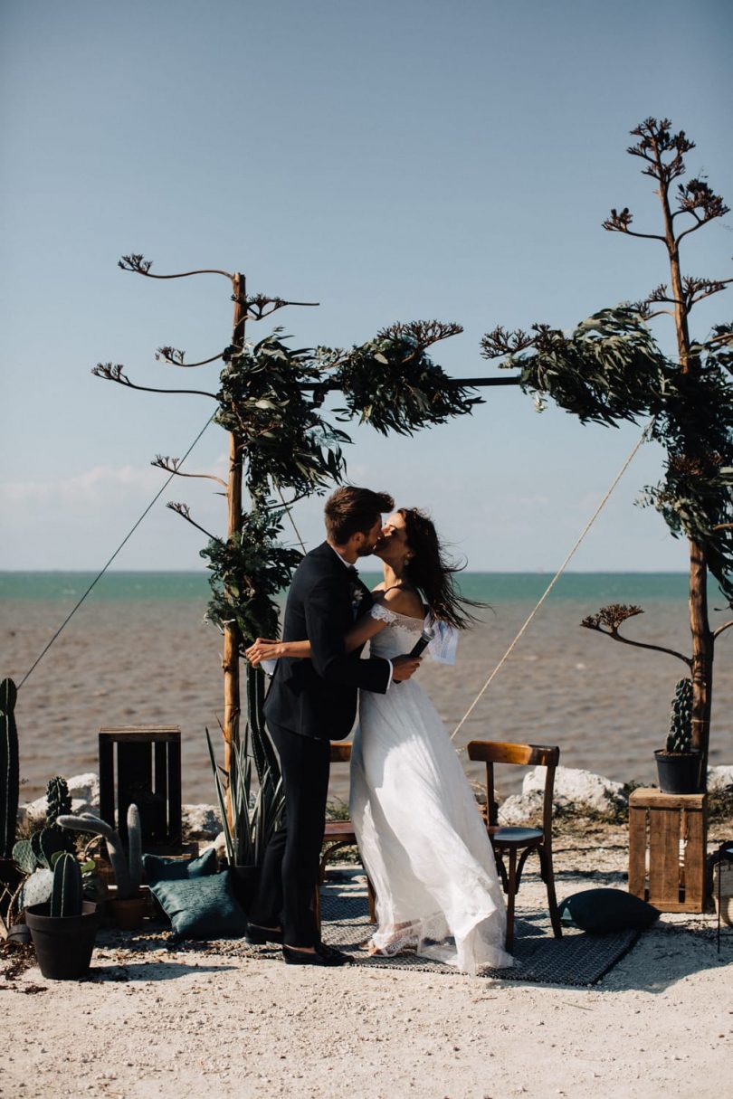
<path fill-rule="evenodd" d="M 666 451 L 665 477 L 646 486 L 675 537 L 693 539 L 733 600 L 733 378 L 723 345 L 693 345 L 691 368 L 660 352 L 638 309 L 604 309 L 569 334 L 534 325 L 532 349 L 500 365 L 519 368 L 525 392 L 552 399 L 582 423 L 618 426 L 654 418 L 651 437 Z M 486 340 L 487 337 L 485 337 Z"/>

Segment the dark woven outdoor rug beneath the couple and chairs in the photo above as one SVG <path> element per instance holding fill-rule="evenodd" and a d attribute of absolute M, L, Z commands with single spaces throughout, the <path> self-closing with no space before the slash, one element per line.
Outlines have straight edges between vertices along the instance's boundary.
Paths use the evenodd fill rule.
<path fill-rule="evenodd" d="M 441 962 L 406 952 L 395 957 L 369 957 L 359 948 L 374 928 L 368 921 L 363 887 L 341 881 L 321 890 L 323 941 L 351 954 L 356 965 L 373 969 L 420 969 L 456 976 Z M 514 965 L 510 969 L 486 969 L 482 977 L 543 985 L 595 985 L 634 945 L 637 931 L 589 935 L 568 928 L 555 939 L 546 912 L 520 911 L 514 924 Z"/>

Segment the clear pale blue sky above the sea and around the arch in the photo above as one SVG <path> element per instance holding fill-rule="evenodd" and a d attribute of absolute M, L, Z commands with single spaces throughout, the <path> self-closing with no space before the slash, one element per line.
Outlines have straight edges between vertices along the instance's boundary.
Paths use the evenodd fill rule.
<path fill-rule="evenodd" d="M 433 357 L 454 377 L 498 373 L 479 355 L 495 325 L 569 329 L 667 279 L 659 244 L 601 227 L 629 206 L 658 230 L 653 182 L 624 152 L 641 120 L 684 129 L 690 173 L 733 199 L 732 23 L 728 0 L 5 0 L 0 568 L 101 567 L 162 487 L 151 459 L 181 455 L 213 411 L 91 376 L 114 362 L 141 385 L 208 390 L 215 364 L 181 371 L 154 352 L 196 360 L 230 342 L 224 279 L 153 281 L 121 255 L 320 302 L 277 314 L 296 346 L 456 321 Z M 729 214 L 693 234 L 684 268 L 730 277 L 732 231 Z M 695 334 L 728 319 L 731 292 L 698 307 Z M 656 331 L 671 353 L 671 322 Z M 537 414 L 518 388 L 484 396 L 411 440 L 349 429 L 349 479 L 427 508 L 470 569 L 554 571 L 641 425 Z M 186 468 L 221 474 L 225 452 L 211 425 Z M 574 569 L 687 567 L 634 507 L 662 457 L 642 447 Z M 115 568 L 202 567 L 202 536 L 166 500 L 225 530 L 215 486 L 179 479 Z M 296 509 L 308 545 L 321 510 Z"/>

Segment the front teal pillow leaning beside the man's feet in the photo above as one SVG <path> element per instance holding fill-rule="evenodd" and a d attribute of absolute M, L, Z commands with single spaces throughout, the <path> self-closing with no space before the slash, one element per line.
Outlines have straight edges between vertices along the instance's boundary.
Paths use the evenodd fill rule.
<path fill-rule="evenodd" d="M 229 870 L 179 881 L 157 881 L 151 891 L 178 939 L 227 939 L 247 929 L 244 909 L 234 899 Z"/>

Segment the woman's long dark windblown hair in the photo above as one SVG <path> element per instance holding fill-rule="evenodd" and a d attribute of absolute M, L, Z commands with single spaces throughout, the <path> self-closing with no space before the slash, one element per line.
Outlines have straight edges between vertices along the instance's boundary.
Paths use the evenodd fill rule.
<path fill-rule="evenodd" d="M 404 520 L 407 544 L 413 556 L 407 562 L 404 577 L 418 588 L 436 619 L 465 630 L 478 621 L 467 607 L 484 607 L 473 599 L 463 599 L 453 577 L 464 565 L 448 560 L 432 519 L 420 508 L 398 508 Z"/>

